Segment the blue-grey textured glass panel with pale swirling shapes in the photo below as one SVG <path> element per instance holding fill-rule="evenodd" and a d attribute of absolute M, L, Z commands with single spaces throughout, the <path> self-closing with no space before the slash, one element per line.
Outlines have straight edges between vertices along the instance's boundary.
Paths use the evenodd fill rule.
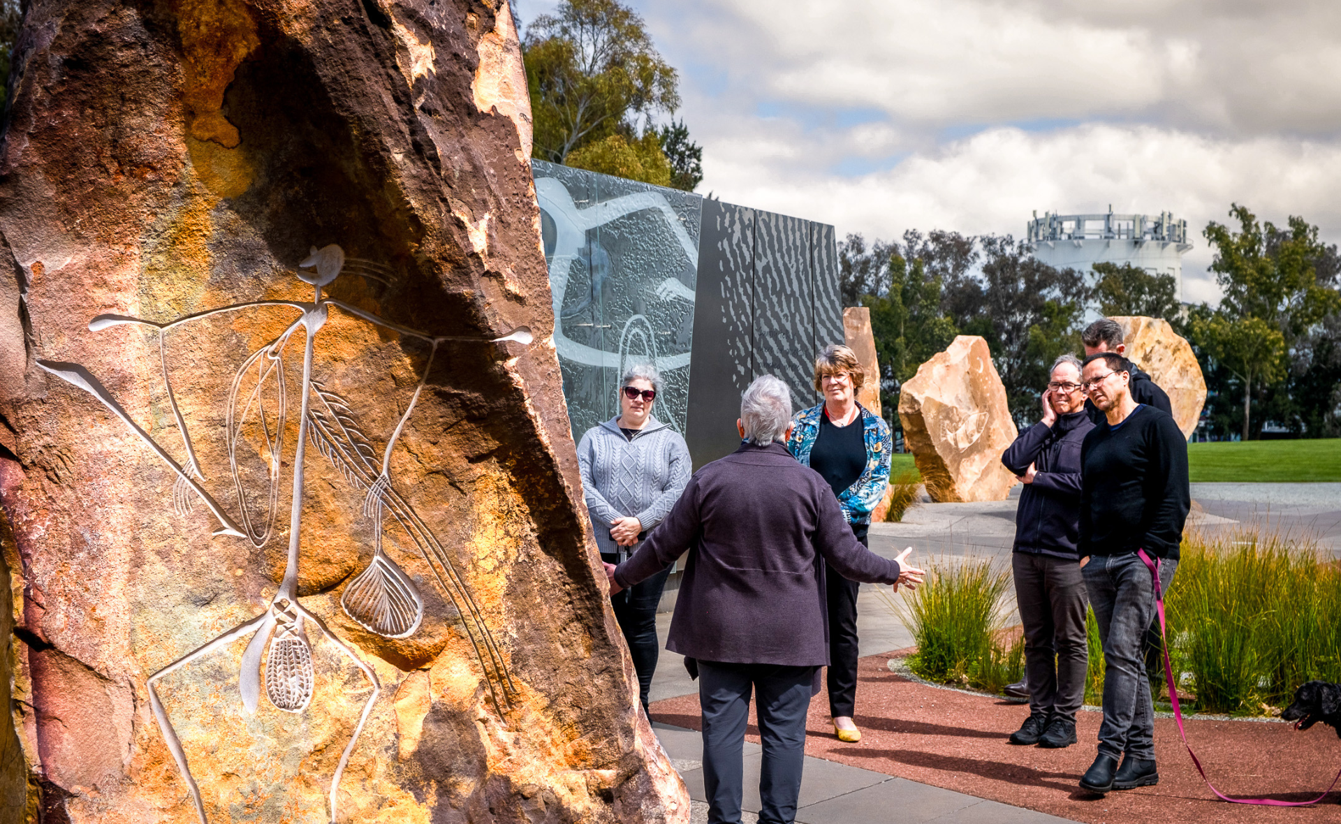
<path fill-rule="evenodd" d="M 618 414 L 620 374 L 661 371 L 653 414 L 685 431 L 697 194 L 531 161 L 573 435 Z"/>

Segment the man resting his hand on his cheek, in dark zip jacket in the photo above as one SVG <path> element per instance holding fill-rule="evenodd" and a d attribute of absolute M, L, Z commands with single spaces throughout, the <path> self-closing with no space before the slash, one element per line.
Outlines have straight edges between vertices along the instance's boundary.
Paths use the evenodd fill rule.
<path fill-rule="evenodd" d="M 1002 454 L 1025 489 L 1015 516 L 1011 567 L 1025 624 L 1030 714 L 1011 744 L 1075 744 L 1075 711 L 1085 702 L 1085 581 L 1080 540 L 1081 441 L 1094 429 L 1085 414 L 1081 362 L 1062 355 L 1043 393 L 1043 419 Z"/>

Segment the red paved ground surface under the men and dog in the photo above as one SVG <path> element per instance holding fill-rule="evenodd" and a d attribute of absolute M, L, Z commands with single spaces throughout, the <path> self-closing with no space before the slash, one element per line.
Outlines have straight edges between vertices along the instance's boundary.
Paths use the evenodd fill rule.
<path fill-rule="evenodd" d="M 821 693 L 810 703 L 806 754 L 1077 821 L 1341 823 L 1341 785 L 1313 807 L 1216 800 L 1192 766 L 1172 718 L 1155 721 L 1159 785 L 1102 799 L 1088 795 L 1075 782 L 1094 760 L 1100 713 L 1080 713 L 1080 744 L 1066 749 L 1012 746 L 1006 737 L 1029 715 L 1025 705 L 923 686 L 890 673 L 889 658 L 861 659 L 856 719 L 862 740 L 842 744 L 834 737 L 829 698 Z M 697 695 L 658 701 L 652 717 L 701 729 Z M 754 721 L 751 711 L 750 740 L 758 742 Z M 1302 801 L 1341 770 L 1341 738 L 1322 724 L 1303 733 L 1287 724 L 1247 721 L 1187 726 L 1211 781 L 1231 797 Z"/>

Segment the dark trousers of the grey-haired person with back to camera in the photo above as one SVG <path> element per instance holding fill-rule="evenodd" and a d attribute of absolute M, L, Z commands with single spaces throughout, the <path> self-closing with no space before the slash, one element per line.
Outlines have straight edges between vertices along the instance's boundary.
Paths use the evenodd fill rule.
<path fill-rule="evenodd" d="M 763 762 L 759 824 L 791 824 L 806 758 L 806 710 L 815 667 L 699 662 L 703 707 L 703 785 L 708 824 L 740 824 L 746 724 L 751 689 L 758 699 Z"/>

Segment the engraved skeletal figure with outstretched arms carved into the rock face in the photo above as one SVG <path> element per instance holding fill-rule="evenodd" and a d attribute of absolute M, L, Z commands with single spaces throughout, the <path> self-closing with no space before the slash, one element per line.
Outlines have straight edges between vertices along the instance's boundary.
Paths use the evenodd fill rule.
<path fill-rule="evenodd" d="M 357 272 L 358 275 L 373 280 L 381 280 L 381 277 L 378 277 L 378 272 L 382 269 L 380 269 L 378 264 L 355 259 L 350 259 L 347 263 L 351 272 Z M 292 501 L 290 505 L 288 560 L 284 567 L 284 576 L 279 584 L 279 590 L 275 592 L 274 599 L 271 599 L 271 603 L 264 612 L 233 627 L 232 630 L 225 631 L 209 643 L 174 661 L 162 670 L 158 670 L 150 675 L 148 681 L 149 699 L 154 717 L 162 730 L 168 749 L 172 752 L 173 758 L 177 762 L 177 768 L 181 770 L 181 774 L 190 789 L 196 812 L 198 813 L 202 824 L 207 823 L 207 819 L 205 808 L 200 796 L 200 788 L 196 785 L 196 781 L 190 774 L 185 752 L 182 750 L 177 733 L 173 729 L 172 721 L 168 718 L 168 713 L 164 709 L 162 701 L 158 698 L 156 689 L 157 682 L 162 678 L 186 666 L 192 661 L 196 661 L 197 658 L 224 648 L 235 640 L 249 636 L 247 648 L 243 653 L 241 673 L 239 675 L 239 690 L 241 693 L 243 706 L 248 713 L 253 713 L 256 710 L 260 698 L 261 654 L 266 653 L 266 697 L 279 710 L 287 713 L 302 713 L 311 702 L 314 689 L 311 657 L 312 640 L 308 638 L 308 632 L 314 632 L 316 640 L 330 640 L 341 654 L 349 657 L 349 659 L 363 673 L 373 687 L 371 694 L 363 705 L 358 725 L 354 728 L 354 733 L 351 734 L 349 744 L 345 746 L 339 765 L 331 776 L 331 821 L 337 820 L 337 789 L 339 786 L 341 776 L 349 762 L 350 753 L 353 753 L 354 746 L 358 742 L 359 733 L 363 729 L 363 724 L 367 721 L 373 703 L 377 701 L 381 691 L 381 685 L 378 683 L 375 671 L 365 663 L 349 644 L 337 638 L 316 615 L 303 608 L 303 606 L 298 602 L 298 565 L 300 552 L 299 535 L 303 509 L 303 466 L 304 448 L 308 441 L 311 441 L 318 453 L 330 461 L 330 464 L 335 466 L 350 484 L 361 490 L 365 490 L 363 514 L 373 521 L 373 559 L 367 568 L 354 577 L 345 588 L 341 598 L 341 606 L 346 614 L 369 631 L 385 638 L 409 636 L 418 628 L 420 622 L 422 620 L 424 599 L 410 577 L 401 571 L 396 561 L 393 561 L 382 548 L 384 516 L 389 512 L 392 519 L 416 545 L 425 563 L 433 571 L 434 579 L 443 592 L 460 612 L 465 632 L 471 639 L 475 654 L 480 662 L 480 667 L 484 671 L 484 679 L 489 690 L 493 709 L 498 711 L 499 717 L 503 715 L 504 706 L 511 706 L 510 694 L 516 691 L 516 687 L 514 686 L 503 662 L 503 655 L 499 651 L 492 634 L 485 626 L 483 614 L 467 588 L 465 581 L 457 575 L 452 561 L 433 532 L 424 524 L 414 509 L 409 506 L 405 498 L 396 492 L 389 476 L 392 450 L 396 448 L 396 441 L 400 438 L 400 434 L 404 430 L 406 421 L 409 421 L 409 417 L 414 410 L 414 405 L 424 390 L 424 385 L 428 381 L 429 371 L 433 366 L 433 355 L 437 351 L 437 346 L 444 340 L 487 342 L 487 339 L 468 336 L 433 336 L 390 323 L 339 300 L 323 297 L 322 287 L 334 281 L 345 267 L 345 252 L 338 245 L 331 244 L 322 249 L 316 249 L 315 247 L 311 249 L 310 256 L 299 264 L 299 272 L 296 273 L 300 280 L 312 284 L 314 297 L 311 303 L 292 300 L 256 300 L 208 310 L 185 318 L 178 318 L 177 320 L 168 323 L 154 323 L 152 320 L 125 318 L 119 315 L 99 315 L 89 324 L 89 328 L 95 332 L 121 324 L 139 324 L 158 330 L 160 362 L 162 366 L 164 382 L 166 385 L 173 419 L 178 433 L 181 434 L 182 445 L 186 453 L 185 466 L 173 460 L 173 457 L 158 442 L 156 442 L 149 433 L 139 427 L 130 418 L 126 410 L 111 397 L 107 389 L 103 387 L 102 383 L 84 367 L 74 363 L 56 363 L 50 360 L 38 362 L 42 368 L 63 378 L 102 402 L 173 469 L 177 476 L 173 486 L 173 505 L 180 514 L 188 514 L 192 510 L 194 500 L 198 497 L 219 521 L 219 528 L 213 532 L 215 536 L 245 537 L 253 547 L 260 548 L 270 540 L 274 532 L 274 521 L 279 502 L 279 470 L 284 452 L 283 433 L 284 418 L 288 407 L 283 351 L 290 338 L 298 332 L 298 330 L 303 330 L 304 332 L 306 348 L 303 352 L 302 402 L 298 419 L 298 442 L 294 448 L 294 486 Z M 205 472 L 196 458 L 196 452 L 188 433 L 186 422 L 177 407 L 177 402 L 172 391 L 172 382 L 168 376 L 168 359 L 164 347 L 164 338 L 170 330 L 186 326 L 202 318 L 221 312 L 236 312 L 253 307 L 276 305 L 295 310 L 299 312 L 299 318 L 295 319 L 275 340 L 252 352 L 243 362 L 243 366 L 237 370 L 237 374 L 233 378 L 229 391 L 227 414 L 228 457 L 239 500 L 239 517 L 233 519 L 200 484 L 200 481 L 205 480 Z M 314 342 L 316 334 L 325 326 L 331 307 L 369 323 L 396 331 L 404 336 L 424 340 L 430 347 L 428 363 L 424 367 L 424 375 L 420 378 L 418 385 L 414 389 L 414 395 L 410 399 L 405 414 L 401 415 L 396 430 L 388 439 L 381 461 L 377 460 L 373 446 L 359 430 L 358 422 L 355 421 L 350 406 L 339 395 L 327 390 L 320 382 L 312 378 Z M 502 343 L 507 340 L 530 344 L 532 335 L 528 328 L 519 327 L 508 335 L 493 339 L 492 343 Z M 255 381 L 253 385 L 251 383 L 252 381 Z M 267 409 L 263 387 L 271 385 L 274 385 L 276 402 Z M 263 513 L 252 512 L 237 465 L 236 448 L 243 437 L 244 423 L 252 421 L 253 417 L 264 441 L 266 449 L 261 454 L 268 454 L 267 469 L 270 489 L 263 506 Z"/>

